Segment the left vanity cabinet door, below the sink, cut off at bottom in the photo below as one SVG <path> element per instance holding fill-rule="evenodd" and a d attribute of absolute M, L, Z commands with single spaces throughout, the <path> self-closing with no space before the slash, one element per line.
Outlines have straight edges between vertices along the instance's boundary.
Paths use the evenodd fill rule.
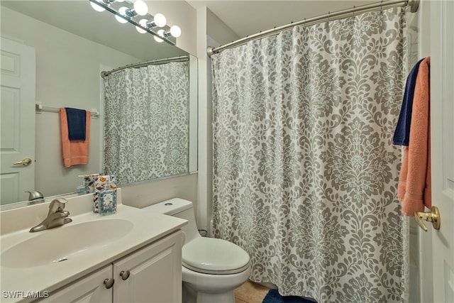
<path fill-rule="evenodd" d="M 55 293 L 50 293 L 42 302 L 93 302 L 111 303 L 112 288 L 107 289 L 104 280 L 112 277 L 112 265 L 84 277 L 82 280 L 72 283 Z M 116 281 L 117 282 L 117 281 Z"/>

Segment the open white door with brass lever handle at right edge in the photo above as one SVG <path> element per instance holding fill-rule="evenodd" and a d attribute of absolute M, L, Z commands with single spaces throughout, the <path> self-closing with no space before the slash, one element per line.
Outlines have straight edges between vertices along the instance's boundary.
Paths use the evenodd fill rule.
<path fill-rule="evenodd" d="M 423 255 L 422 262 L 432 275 L 422 282 L 433 285 L 433 302 L 454 302 L 454 1 L 430 4 L 432 205 L 440 210 L 441 226 L 428 226 L 431 243 L 423 246 L 432 256 Z"/>

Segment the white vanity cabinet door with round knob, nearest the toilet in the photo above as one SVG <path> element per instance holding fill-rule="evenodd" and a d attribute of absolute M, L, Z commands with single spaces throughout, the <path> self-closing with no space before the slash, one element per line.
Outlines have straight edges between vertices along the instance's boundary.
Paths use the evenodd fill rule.
<path fill-rule="evenodd" d="M 114 302 L 182 302 L 182 232 L 114 263 Z"/>

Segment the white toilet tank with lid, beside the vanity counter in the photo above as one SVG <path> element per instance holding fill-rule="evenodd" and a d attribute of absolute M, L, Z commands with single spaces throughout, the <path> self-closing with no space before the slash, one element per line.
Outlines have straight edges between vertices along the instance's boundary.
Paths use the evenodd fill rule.
<path fill-rule="evenodd" d="M 151 211 L 155 214 L 167 214 L 168 216 L 175 216 L 187 220 L 187 225 L 182 227 L 184 244 L 192 241 L 194 238 L 200 237 L 199 230 L 196 226 L 194 205 L 190 201 L 174 198 L 146 206 L 143 210 Z"/>

